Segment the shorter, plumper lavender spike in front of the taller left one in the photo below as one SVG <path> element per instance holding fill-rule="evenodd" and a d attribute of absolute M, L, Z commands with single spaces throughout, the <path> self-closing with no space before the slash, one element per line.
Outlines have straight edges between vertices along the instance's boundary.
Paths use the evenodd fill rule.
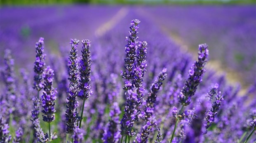
<path fill-rule="evenodd" d="M 45 122 L 52 122 L 55 120 L 55 100 L 56 100 L 56 93 L 57 91 L 52 87 L 53 82 L 53 76 L 54 71 L 50 68 L 50 66 L 47 66 L 45 71 L 43 72 L 43 78 L 45 80 L 44 82 L 44 91 L 42 95 L 42 106 L 44 113 L 43 115 L 43 121 Z"/>

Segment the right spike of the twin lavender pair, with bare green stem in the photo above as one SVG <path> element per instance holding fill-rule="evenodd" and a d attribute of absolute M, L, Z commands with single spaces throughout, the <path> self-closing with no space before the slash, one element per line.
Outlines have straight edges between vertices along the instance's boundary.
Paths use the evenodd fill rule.
<path fill-rule="evenodd" d="M 82 56 L 80 58 L 80 79 L 79 79 L 79 88 L 80 92 L 78 93 L 78 97 L 83 100 L 82 110 L 81 110 L 81 116 L 79 118 L 79 128 L 81 128 L 82 120 L 83 120 L 83 109 L 85 100 L 90 98 L 90 95 L 92 94 L 92 90 L 90 90 L 90 74 L 91 74 L 91 65 L 92 65 L 92 59 L 90 55 L 90 46 L 91 42 L 88 39 L 82 40 Z"/>

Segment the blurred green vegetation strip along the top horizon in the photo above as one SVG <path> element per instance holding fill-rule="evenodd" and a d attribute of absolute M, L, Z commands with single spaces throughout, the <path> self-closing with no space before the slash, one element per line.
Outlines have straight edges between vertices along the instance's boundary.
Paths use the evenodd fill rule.
<path fill-rule="evenodd" d="M 67 4 L 146 4 L 146 5 L 248 5 L 256 4 L 255 0 L 0 0 L 0 5 L 67 5 Z"/>

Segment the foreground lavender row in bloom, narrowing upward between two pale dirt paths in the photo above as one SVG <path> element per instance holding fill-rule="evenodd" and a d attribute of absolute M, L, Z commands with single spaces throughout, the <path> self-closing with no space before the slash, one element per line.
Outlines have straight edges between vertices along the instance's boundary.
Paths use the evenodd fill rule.
<path fill-rule="evenodd" d="M 1 67 L 0 84 L 5 88 L 0 92 L 0 142 L 255 142 L 256 84 L 240 92 L 239 85 L 230 85 L 225 76 L 207 68 L 212 47 L 206 44 L 199 45 L 193 64 L 191 56 L 140 10 L 120 9 L 121 15 L 129 12 L 124 19 L 139 17 L 145 25 L 131 21 L 125 52 L 119 47 L 125 45 L 121 41 L 126 20 L 109 22 L 107 27 L 114 29 L 97 32 L 92 45 L 85 39 L 79 47 L 79 40 L 71 39 L 69 52 L 60 48 L 49 59 L 44 54 L 50 53 L 48 42 L 44 48 L 40 38 L 34 74 L 14 65 L 7 50 Z M 138 41 L 138 36 L 147 42 Z M 48 63 L 51 68 L 45 68 Z M 18 66 L 25 69 L 21 76 Z"/>

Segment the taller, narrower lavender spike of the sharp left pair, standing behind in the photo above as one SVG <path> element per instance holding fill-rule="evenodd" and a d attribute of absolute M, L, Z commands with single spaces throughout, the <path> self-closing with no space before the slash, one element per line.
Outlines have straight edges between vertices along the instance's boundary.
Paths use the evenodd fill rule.
<path fill-rule="evenodd" d="M 45 54 L 44 54 L 44 42 L 41 37 L 39 41 L 36 43 L 36 61 L 34 62 L 34 72 L 36 73 L 34 76 L 34 87 L 37 91 L 43 89 L 43 69 L 45 65 Z"/>

